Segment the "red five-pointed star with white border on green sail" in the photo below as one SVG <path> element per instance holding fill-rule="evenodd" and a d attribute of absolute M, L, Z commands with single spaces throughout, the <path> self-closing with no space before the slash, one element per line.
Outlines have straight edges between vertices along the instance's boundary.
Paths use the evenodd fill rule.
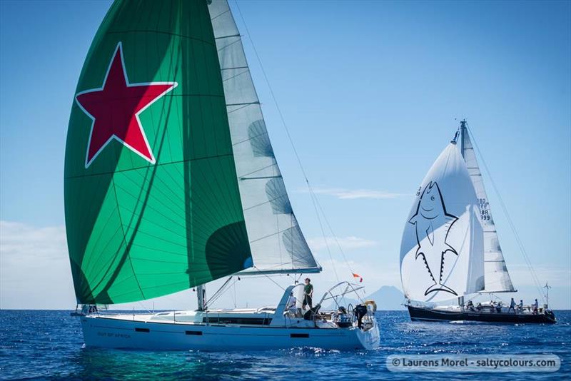
<path fill-rule="evenodd" d="M 116 139 L 150 163 L 155 157 L 138 118 L 148 106 L 177 86 L 176 82 L 129 83 L 123 47 L 117 44 L 103 86 L 76 95 L 79 107 L 91 118 L 85 168 Z"/>

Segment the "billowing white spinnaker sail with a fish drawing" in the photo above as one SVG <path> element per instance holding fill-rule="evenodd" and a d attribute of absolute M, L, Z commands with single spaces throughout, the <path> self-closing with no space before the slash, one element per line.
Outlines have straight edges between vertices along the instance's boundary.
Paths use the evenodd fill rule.
<path fill-rule="evenodd" d="M 400 245 L 405 297 L 440 302 L 484 288 L 482 225 L 459 148 L 440 153 L 416 193 Z"/>

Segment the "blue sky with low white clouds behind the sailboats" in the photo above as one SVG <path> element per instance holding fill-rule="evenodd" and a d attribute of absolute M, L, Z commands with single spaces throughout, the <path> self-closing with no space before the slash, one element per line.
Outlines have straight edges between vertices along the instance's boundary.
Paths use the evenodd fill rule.
<path fill-rule="evenodd" d="M 0 308 L 75 306 L 66 133 L 109 4 L 0 1 Z M 551 307 L 571 308 L 571 2 L 238 6 L 251 39 L 231 1 L 285 185 L 325 269 L 312 276 L 315 293 L 350 278 L 349 268 L 363 276 L 366 293 L 400 288 L 400 238 L 414 193 L 466 118 L 490 169 L 484 181 L 517 298 L 539 291 L 490 175 L 537 277 L 552 285 Z M 252 41 L 333 230 L 325 225 L 326 239 Z M 244 278 L 220 305 L 277 303 L 278 285 L 290 282 Z M 191 294 L 121 307 L 193 308 Z"/>

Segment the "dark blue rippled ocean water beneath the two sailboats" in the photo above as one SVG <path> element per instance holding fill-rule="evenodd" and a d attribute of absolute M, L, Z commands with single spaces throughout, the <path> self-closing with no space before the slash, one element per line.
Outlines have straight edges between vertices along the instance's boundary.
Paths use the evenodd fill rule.
<path fill-rule="evenodd" d="M 146 352 L 83 347 L 69 311 L 0 310 L 0 379 L 106 380 L 551 380 L 571 377 L 571 311 L 555 325 L 410 322 L 381 311 L 381 347 L 369 352 L 295 348 L 265 352 Z M 385 366 L 394 354 L 554 354 L 557 373 L 403 373 Z"/>

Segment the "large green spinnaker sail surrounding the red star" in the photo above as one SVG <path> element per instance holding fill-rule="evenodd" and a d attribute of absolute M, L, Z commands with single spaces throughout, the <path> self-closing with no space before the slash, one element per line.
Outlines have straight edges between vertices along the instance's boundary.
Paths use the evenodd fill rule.
<path fill-rule="evenodd" d="M 65 209 L 83 304 L 156 298 L 252 263 L 206 0 L 116 1 L 76 94 L 103 86 L 119 43 L 129 83 L 178 86 L 138 115 L 156 163 L 112 140 L 86 168 L 92 119 L 74 100 Z"/>

